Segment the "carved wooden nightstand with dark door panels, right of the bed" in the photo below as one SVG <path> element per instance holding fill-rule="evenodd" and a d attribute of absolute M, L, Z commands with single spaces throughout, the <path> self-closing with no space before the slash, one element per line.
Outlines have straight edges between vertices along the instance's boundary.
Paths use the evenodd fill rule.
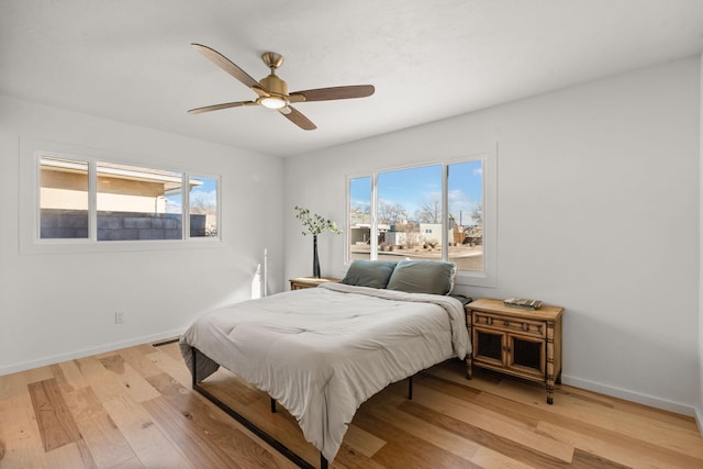
<path fill-rule="evenodd" d="M 561 383 L 561 316 L 563 308 L 543 305 L 521 310 L 502 300 L 482 298 L 466 305 L 471 339 L 471 366 L 500 371 L 547 386 L 547 403 L 554 402 L 554 384 Z"/>

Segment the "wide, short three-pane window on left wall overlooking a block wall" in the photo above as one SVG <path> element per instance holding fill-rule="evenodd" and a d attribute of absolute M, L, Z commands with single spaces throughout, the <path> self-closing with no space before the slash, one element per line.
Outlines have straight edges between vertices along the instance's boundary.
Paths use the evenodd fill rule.
<path fill-rule="evenodd" d="M 217 178 L 48 152 L 38 165 L 40 239 L 219 237 Z"/>

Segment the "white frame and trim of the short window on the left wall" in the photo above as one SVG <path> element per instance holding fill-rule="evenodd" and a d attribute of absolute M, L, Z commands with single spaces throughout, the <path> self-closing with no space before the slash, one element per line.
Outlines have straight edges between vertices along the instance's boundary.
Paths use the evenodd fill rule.
<path fill-rule="evenodd" d="M 165 249 L 190 249 L 193 247 L 223 248 L 222 230 L 222 178 L 212 175 L 211 171 L 174 169 L 183 172 L 183 178 L 189 176 L 211 178 L 217 180 L 217 236 L 190 237 L 186 228 L 190 225 L 190 193 L 183 189 L 181 194 L 183 204 L 183 237 L 181 239 L 131 239 L 131 241 L 98 241 L 97 220 L 97 188 L 96 170 L 97 163 L 116 163 L 133 166 L 158 166 L 160 169 L 170 169 L 168 164 L 156 159 L 149 163 L 135 161 L 133 158 L 118 157 L 111 153 L 86 148 L 77 145 L 46 142 L 35 138 L 20 138 L 20 189 L 19 189 L 19 239 L 20 254 L 70 254 L 70 253 L 111 253 L 111 252 L 140 252 L 140 250 L 165 250 Z M 89 222 L 87 238 L 41 238 L 41 171 L 40 158 L 57 157 L 88 161 L 88 193 L 89 193 Z M 29 182 L 29 183 L 27 183 Z M 188 186 L 185 186 L 188 188 Z"/>

